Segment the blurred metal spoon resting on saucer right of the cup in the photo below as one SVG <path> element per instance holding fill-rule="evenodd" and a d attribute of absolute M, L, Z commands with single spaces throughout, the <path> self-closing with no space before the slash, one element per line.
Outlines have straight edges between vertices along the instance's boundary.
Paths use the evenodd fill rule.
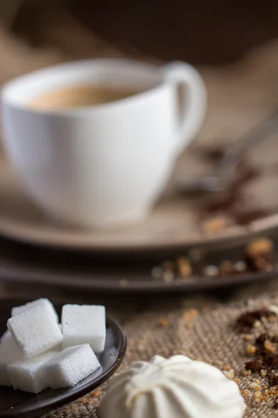
<path fill-rule="evenodd" d="M 263 123 L 240 138 L 223 155 L 218 176 L 199 176 L 178 180 L 177 188 L 183 193 L 223 192 L 229 187 L 233 175 L 244 153 L 268 139 L 278 131 L 278 113 L 272 114 Z"/>

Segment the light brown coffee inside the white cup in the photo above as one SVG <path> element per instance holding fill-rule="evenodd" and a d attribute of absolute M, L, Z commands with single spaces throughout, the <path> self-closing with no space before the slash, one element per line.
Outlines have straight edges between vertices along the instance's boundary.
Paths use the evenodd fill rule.
<path fill-rule="evenodd" d="M 108 86 L 67 86 L 38 95 L 29 102 L 29 107 L 42 110 L 88 107 L 129 98 L 137 93 L 139 91 L 135 89 L 116 89 Z"/>

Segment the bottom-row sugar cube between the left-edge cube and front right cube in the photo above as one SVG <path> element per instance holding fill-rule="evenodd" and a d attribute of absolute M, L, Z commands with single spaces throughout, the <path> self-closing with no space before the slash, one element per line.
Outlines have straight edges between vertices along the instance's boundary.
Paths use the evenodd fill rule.
<path fill-rule="evenodd" d="M 46 365 L 56 354 L 55 351 L 47 351 L 38 357 L 9 364 L 8 376 L 13 388 L 38 394 L 49 387 Z"/>

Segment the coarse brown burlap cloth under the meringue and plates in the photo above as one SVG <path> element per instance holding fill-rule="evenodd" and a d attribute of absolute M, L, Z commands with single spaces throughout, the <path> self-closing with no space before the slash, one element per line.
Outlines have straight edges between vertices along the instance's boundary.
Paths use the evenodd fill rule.
<path fill-rule="evenodd" d="M 181 353 L 220 369 L 222 366 L 234 369 L 235 378 L 241 380 L 240 389 L 250 390 L 245 398 L 248 405 L 245 417 L 278 417 L 273 402 L 254 401 L 255 391 L 250 385 L 258 377 L 241 376 L 250 358 L 245 355 L 243 336 L 233 329 L 236 318 L 246 309 L 278 303 L 277 280 L 228 289 L 218 295 L 127 296 L 99 301 L 106 304 L 108 313 L 119 321 L 127 336 L 128 350 L 119 373 L 138 359 L 148 361 L 154 355 L 169 357 Z M 105 388 L 106 385 L 100 387 L 47 418 L 97 418 L 97 406 Z"/>

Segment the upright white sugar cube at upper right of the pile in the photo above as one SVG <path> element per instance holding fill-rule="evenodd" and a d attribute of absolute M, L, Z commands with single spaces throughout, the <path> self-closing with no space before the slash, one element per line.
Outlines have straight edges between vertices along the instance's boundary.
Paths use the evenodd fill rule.
<path fill-rule="evenodd" d="M 66 304 L 62 311 L 62 347 L 90 344 L 95 353 L 104 350 L 106 339 L 105 307 Z"/>

